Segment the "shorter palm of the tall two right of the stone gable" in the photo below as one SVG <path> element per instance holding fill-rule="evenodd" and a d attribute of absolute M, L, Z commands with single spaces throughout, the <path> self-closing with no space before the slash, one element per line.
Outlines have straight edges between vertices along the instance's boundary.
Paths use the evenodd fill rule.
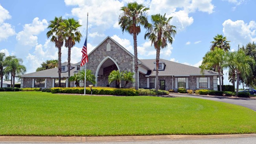
<path fill-rule="evenodd" d="M 173 17 L 166 18 L 165 14 L 151 15 L 153 24 L 149 24 L 148 30 L 145 33 L 145 39 L 151 40 L 151 45 L 154 44 L 156 49 L 156 91 L 158 91 L 158 67 L 160 60 L 160 50 L 167 46 L 167 41 L 173 43 L 173 37 L 176 34 L 176 28 L 170 25 L 169 22 Z M 173 37 L 172 37 L 173 36 Z"/>

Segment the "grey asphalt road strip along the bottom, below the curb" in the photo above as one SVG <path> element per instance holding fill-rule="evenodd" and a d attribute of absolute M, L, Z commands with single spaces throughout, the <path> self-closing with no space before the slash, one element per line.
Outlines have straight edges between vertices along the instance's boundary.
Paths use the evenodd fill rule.
<path fill-rule="evenodd" d="M 139 142 L 0 142 L 0 144 L 256 144 L 256 137 Z"/>

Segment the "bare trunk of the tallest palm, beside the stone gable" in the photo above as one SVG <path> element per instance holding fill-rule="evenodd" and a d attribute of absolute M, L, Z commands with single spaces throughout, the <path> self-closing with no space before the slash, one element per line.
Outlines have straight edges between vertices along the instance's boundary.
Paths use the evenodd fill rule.
<path fill-rule="evenodd" d="M 135 71 L 135 89 L 138 90 L 138 52 L 137 52 L 137 35 L 133 33 L 134 36 L 134 71 Z"/>

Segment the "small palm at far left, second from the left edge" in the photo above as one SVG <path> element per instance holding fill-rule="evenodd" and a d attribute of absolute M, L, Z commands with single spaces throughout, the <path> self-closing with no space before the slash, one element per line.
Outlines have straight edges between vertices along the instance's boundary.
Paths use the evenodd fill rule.
<path fill-rule="evenodd" d="M 24 74 L 26 72 L 26 66 L 22 65 L 22 59 L 19 59 L 15 56 L 6 57 L 7 66 L 6 70 L 11 72 L 12 80 L 13 80 L 13 88 L 15 85 L 15 76 Z"/>

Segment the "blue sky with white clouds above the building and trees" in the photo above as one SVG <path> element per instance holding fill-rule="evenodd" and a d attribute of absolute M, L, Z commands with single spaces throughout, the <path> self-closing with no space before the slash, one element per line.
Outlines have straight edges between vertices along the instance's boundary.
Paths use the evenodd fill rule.
<path fill-rule="evenodd" d="M 87 50 L 91 52 L 101 41 L 110 36 L 134 54 L 133 38 L 122 33 L 118 25 L 120 8 L 135 0 L 0 0 L 0 52 L 23 59 L 26 73 L 35 72 L 46 60 L 58 59 L 58 49 L 46 37 L 48 22 L 54 17 L 75 18 L 82 24 L 80 43 L 71 50 L 71 63 L 82 58 L 86 36 Z M 137 0 L 150 8 L 151 15 L 166 13 L 173 17 L 176 26 L 173 44 L 161 49 L 160 58 L 198 67 L 202 57 L 210 50 L 217 34 L 224 35 L 236 51 L 238 45 L 256 41 L 256 0 Z M 139 59 L 155 59 L 156 50 L 145 29 L 137 36 Z M 67 61 L 67 48 L 62 48 L 62 62 Z M 228 82 L 224 70 L 224 84 Z"/>

